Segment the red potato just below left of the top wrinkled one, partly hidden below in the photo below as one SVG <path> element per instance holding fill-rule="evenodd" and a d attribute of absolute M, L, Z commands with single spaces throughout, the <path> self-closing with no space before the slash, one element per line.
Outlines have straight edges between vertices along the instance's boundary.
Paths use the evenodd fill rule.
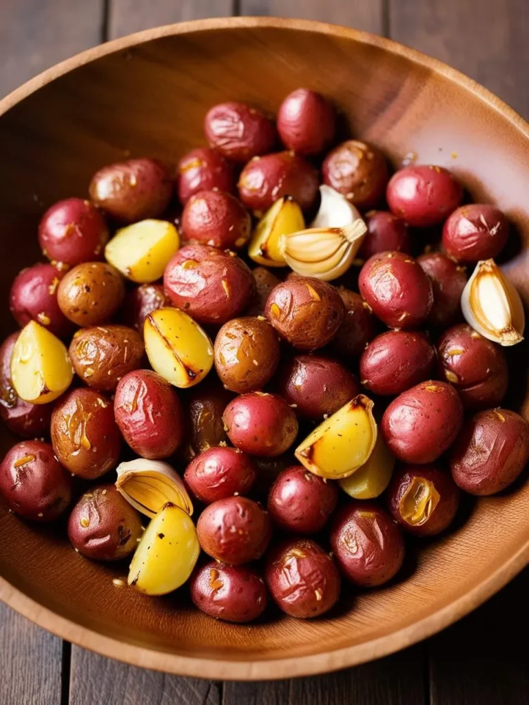
<path fill-rule="evenodd" d="M 185 205 L 199 191 L 235 190 L 235 172 L 220 152 L 208 147 L 191 149 L 178 162 L 178 198 Z"/>

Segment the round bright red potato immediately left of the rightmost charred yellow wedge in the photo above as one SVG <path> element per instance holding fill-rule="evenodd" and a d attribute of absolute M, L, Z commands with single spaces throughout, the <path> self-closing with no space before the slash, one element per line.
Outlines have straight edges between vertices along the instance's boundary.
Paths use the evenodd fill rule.
<path fill-rule="evenodd" d="M 230 441 L 250 455 L 281 455 L 298 435 L 296 415 L 276 394 L 241 394 L 229 403 L 223 418 Z"/>

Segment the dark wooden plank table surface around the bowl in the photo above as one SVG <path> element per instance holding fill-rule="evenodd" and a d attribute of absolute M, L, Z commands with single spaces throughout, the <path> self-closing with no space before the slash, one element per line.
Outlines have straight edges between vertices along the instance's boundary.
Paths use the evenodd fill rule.
<path fill-rule="evenodd" d="M 527 0 L 0 0 L 0 94 L 104 39 L 229 14 L 298 16 L 387 35 L 451 63 L 529 116 Z M 0 705 L 525 705 L 528 594 L 526 570 L 411 649 L 341 673 L 257 684 L 109 661 L 0 606 Z"/>

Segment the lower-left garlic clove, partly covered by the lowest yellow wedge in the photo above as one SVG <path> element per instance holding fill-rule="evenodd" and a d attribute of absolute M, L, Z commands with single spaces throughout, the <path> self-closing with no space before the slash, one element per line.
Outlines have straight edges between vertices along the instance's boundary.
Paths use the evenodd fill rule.
<path fill-rule="evenodd" d="M 118 492 L 142 514 L 154 517 L 166 503 L 193 514 L 193 503 L 181 477 L 161 460 L 137 458 L 122 462 L 116 472 Z"/>

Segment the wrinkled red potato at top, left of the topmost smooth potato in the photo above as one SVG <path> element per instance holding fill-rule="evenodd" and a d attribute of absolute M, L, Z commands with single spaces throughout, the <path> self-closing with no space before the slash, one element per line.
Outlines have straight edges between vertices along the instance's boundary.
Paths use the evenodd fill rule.
<path fill-rule="evenodd" d="M 276 142 L 274 125 L 262 111 L 233 101 L 209 109 L 204 133 L 209 147 L 241 164 L 272 152 Z"/>

